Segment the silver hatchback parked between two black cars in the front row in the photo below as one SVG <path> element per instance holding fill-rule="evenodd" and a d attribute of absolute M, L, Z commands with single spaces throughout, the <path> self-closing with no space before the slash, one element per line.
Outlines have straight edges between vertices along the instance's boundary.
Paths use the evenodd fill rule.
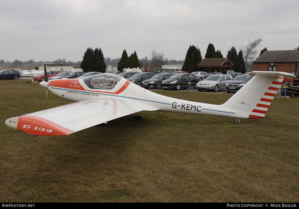
<path fill-rule="evenodd" d="M 218 92 L 219 89 L 225 89 L 226 83 L 230 82 L 232 79 L 233 77 L 231 75 L 210 75 L 205 80 L 198 82 L 196 88 L 199 91 L 213 90 L 214 92 Z"/>

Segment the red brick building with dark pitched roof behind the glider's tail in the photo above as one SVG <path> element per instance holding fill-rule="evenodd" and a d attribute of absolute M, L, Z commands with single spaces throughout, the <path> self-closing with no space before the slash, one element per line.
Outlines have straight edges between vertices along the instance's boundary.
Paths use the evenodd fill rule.
<path fill-rule="evenodd" d="M 253 70 L 290 73 L 292 66 L 291 73 L 295 73 L 295 64 L 298 60 L 299 50 L 264 51 L 253 61 Z"/>

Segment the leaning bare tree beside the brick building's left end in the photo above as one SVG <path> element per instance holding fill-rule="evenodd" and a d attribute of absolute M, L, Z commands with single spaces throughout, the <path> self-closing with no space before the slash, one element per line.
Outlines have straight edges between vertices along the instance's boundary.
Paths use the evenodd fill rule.
<path fill-rule="evenodd" d="M 258 50 L 256 48 L 261 46 L 263 41 L 263 36 L 258 39 L 254 39 L 253 42 L 248 41 L 247 46 L 242 47 L 242 53 L 244 56 L 245 67 L 247 67 L 247 63 L 253 61 L 257 57 Z"/>

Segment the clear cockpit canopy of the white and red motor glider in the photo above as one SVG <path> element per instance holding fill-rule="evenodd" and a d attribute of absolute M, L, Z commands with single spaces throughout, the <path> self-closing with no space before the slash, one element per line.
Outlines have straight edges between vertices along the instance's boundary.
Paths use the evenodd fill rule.
<path fill-rule="evenodd" d="M 113 73 L 100 73 L 83 78 L 83 82 L 91 89 L 111 90 L 120 82 L 122 77 Z"/>

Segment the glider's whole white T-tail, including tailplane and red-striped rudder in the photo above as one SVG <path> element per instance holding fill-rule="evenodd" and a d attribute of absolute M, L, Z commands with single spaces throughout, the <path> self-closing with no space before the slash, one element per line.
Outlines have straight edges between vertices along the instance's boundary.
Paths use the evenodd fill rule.
<path fill-rule="evenodd" d="M 234 110 L 236 118 L 263 118 L 284 78 L 296 77 L 285 72 L 253 71 L 253 76 L 222 106 Z"/>

